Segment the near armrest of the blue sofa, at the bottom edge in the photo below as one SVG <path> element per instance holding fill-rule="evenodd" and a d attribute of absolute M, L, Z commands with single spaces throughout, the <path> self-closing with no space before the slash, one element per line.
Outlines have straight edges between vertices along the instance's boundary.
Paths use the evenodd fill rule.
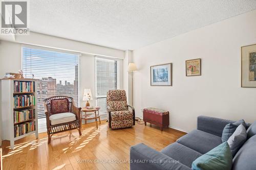
<path fill-rule="evenodd" d="M 130 149 L 130 169 L 172 169 L 191 170 L 191 168 L 158 152 L 143 143 L 134 145 Z"/>

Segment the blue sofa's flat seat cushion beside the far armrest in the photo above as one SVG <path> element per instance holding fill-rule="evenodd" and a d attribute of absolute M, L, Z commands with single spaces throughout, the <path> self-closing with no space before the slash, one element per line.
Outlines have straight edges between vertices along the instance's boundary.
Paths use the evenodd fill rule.
<path fill-rule="evenodd" d="M 205 154 L 222 143 L 221 137 L 200 130 L 189 132 L 179 138 L 177 142 L 201 154 Z"/>

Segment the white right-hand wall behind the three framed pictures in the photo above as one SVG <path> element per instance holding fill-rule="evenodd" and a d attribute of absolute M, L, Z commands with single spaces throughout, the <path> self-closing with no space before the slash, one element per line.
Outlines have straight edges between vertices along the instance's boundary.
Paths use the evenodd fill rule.
<path fill-rule="evenodd" d="M 197 116 L 256 120 L 256 88 L 241 88 L 240 47 L 256 43 L 256 10 L 133 52 L 134 105 L 170 111 L 170 127 L 196 128 Z M 202 76 L 186 77 L 185 60 L 202 59 Z M 173 86 L 150 86 L 150 66 L 173 63 Z"/>

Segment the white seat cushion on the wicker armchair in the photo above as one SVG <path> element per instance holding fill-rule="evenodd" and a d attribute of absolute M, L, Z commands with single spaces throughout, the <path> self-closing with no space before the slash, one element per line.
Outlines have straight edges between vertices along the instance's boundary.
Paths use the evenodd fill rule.
<path fill-rule="evenodd" d="M 76 115 L 70 112 L 57 113 L 49 117 L 51 125 L 63 124 L 76 120 Z"/>

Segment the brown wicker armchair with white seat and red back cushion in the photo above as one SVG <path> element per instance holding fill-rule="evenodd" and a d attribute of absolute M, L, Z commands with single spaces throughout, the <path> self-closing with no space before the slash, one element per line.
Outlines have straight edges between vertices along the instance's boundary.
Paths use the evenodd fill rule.
<path fill-rule="evenodd" d="M 48 143 L 53 134 L 73 129 L 81 135 L 81 108 L 69 96 L 53 96 L 44 100 Z"/>

